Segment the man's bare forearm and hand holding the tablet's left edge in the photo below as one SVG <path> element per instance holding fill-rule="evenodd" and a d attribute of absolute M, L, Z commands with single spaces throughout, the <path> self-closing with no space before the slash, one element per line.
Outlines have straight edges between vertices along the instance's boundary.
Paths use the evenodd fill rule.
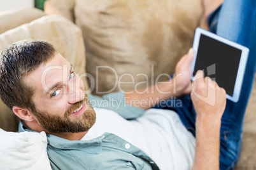
<path fill-rule="evenodd" d="M 125 93 L 125 103 L 134 107 L 148 109 L 155 101 L 168 100 L 171 97 L 188 95 L 191 92 L 191 63 L 194 50 L 190 49 L 176 65 L 175 76 L 170 81 L 155 84 L 145 89 Z"/>

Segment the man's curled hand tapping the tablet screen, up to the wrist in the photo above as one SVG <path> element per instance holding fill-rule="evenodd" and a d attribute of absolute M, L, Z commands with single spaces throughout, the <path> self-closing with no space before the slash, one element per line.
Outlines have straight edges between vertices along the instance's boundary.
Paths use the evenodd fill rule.
<path fill-rule="evenodd" d="M 204 72 L 199 70 L 192 84 L 191 98 L 197 117 L 209 117 L 220 120 L 225 110 L 225 89 L 220 88 L 210 77 L 204 77 Z"/>

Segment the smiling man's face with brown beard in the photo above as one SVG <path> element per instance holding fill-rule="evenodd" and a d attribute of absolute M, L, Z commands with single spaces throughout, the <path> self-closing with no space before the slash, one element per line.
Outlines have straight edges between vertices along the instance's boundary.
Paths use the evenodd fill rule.
<path fill-rule="evenodd" d="M 24 77 L 34 89 L 32 110 L 38 124 L 48 133 L 88 131 L 96 114 L 83 93 L 84 84 L 71 64 L 60 54 Z"/>

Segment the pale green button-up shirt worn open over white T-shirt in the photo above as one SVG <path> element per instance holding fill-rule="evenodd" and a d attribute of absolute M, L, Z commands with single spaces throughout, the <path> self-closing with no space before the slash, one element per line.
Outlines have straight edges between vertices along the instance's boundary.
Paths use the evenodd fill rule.
<path fill-rule="evenodd" d="M 141 116 L 144 110 L 125 105 L 123 93 L 111 93 L 103 98 L 89 95 L 92 106 L 110 109 L 125 119 Z M 115 105 L 113 100 L 116 100 Z M 109 102 L 109 103 L 108 103 Z M 103 105 L 108 103 L 108 107 Z M 20 131 L 29 131 L 20 126 Z M 148 155 L 115 134 L 87 141 L 70 141 L 47 134 L 47 153 L 52 169 L 159 169 Z"/>

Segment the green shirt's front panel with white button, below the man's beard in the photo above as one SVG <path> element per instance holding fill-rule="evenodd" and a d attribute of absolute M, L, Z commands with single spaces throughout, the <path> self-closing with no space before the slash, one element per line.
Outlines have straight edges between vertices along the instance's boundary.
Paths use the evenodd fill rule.
<path fill-rule="evenodd" d="M 89 141 L 49 135 L 47 153 L 52 169 L 159 169 L 139 148 L 111 133 Z"/>

